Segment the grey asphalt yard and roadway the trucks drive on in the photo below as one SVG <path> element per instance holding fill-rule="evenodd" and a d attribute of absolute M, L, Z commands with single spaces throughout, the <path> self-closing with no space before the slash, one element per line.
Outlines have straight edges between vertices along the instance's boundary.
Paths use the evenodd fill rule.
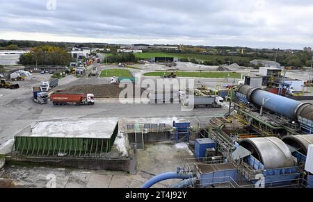
<path fill-rule="evenodd" d="M 104 68 L 104 67 L 102 67 Z M 227 108 L 195 109 L 182 111 L 180 104 L 122 104 L 118 100 L 96 99 L 95 106 L 54 106 L 51 103 L 39 105 L 33 102 L 31 87 L 40 85 L 48 75 L 34 74 L 22 83 L 19 90 L 0 89 L 0 153 L 10 152 L 16 133 L 39 120 L 63 118 L 144 118 L 144 117 L 205 117 L 223 115 Z M 105 84 L 109 78 L 74 78 L 67 76 L 57 89 L 71 85 Z"/>

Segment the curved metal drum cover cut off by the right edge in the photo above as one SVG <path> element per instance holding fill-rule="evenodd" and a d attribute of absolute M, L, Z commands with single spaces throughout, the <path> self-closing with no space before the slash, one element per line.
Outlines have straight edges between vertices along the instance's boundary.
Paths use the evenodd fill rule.
<path fill-rule="evenodd" d="M 296 149 L 303 155 L 307 155 L 307 149 L 313 144 L 313 135 L 290 135 L 282 138 L 282 141 Z"/>

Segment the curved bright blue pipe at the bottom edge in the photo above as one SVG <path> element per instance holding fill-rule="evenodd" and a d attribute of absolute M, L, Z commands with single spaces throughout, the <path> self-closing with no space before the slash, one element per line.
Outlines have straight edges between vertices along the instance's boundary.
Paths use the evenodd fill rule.
<path fill-rule="evenodd" d="M 193 176 L 192 173 L 181 174 L 181 173 L 177 173 L 177 172 L 160 174 L 159 176 L 155 176 L 154 178 L 151 178 L 150 180 L 148 180 L 147 183 L 145 183 L 145 185 L 143 185 L 143 187 L 141 187 L 141 188 L 142 189 L 149 189 L 153 185 L 155 185 L 161 181 L 164 181 L 164 180 L 170 180 L 170 179 L 183 179 L 183 180 L 185 180 L 185 179 L 191 178 L 192 176 Z"/>

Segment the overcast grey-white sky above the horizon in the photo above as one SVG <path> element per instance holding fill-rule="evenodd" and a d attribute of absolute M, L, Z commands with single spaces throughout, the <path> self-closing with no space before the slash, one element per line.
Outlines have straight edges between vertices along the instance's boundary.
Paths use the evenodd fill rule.
<path fill-rule="evenodd" d="M 313 1 L 1 0 L 0 39 L 303 49 Z"/>

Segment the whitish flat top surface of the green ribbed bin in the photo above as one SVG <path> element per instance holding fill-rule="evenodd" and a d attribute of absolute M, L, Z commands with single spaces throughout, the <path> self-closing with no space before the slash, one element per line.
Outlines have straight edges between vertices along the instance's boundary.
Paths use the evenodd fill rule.
<path fill-rule="evenodd" d="M 110 139 L 117 126 L 117 118 L 59 119 L 36 122 L 31 131 L 16 136 Z"/>

